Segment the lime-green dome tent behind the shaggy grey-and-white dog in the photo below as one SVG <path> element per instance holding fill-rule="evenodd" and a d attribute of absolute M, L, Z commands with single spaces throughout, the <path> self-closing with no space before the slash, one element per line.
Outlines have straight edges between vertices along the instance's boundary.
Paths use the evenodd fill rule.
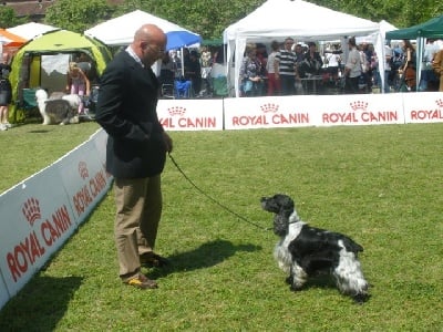
<path fill-rule="evenodd" d="M 11 63 L 12 71 L 9 76 L 12 85 L 10 121 L 17 123 L 25 117 L 27 103 L 23 92 L 35 87 L 47 89 L 44 85 L 51 83 L 49 81 L 51 80 L 51 72 L 48 74 L 48 62 L 50 66 L 52 58 L 64 56 L 63 60 L 68 62 L 66 59 L 69 61 L 75 60 L 81 53 L 90 59 L 91 68 L 95 71 L 96 77 L 102 74 L 107 62 L 112 59 L 110 50 L 97 40 L 66 30 L 50 31 L 25 43 L 13 56 Z M 42 69 L 44 61 L 47 62 L 47 70 Z M 64 68 L 63 70 L 59 69 L 56 76 L 59 81 L 63 80 L 63 87 L 66 82 L 66 72 L 68 63 L 65 71 Z M 43 81 L 47 83 L 42 84 Z M 61 83 L 59 83 L 60 85 Z M 60 90 L 63 91 L 64 89 Z"/>

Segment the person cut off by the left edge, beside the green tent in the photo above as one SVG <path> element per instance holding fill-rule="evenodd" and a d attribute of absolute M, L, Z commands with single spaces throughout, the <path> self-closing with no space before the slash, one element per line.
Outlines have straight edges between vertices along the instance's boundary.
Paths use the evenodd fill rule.
<path fill-rule="evenodd" d="M 8 131 L 12 125 L 9 123 L 9 104 L 12 100 L 12 86 L 9 81 L 11 65 L 9 53 L 2 54 L 0 63 L 0 131 Z"/>

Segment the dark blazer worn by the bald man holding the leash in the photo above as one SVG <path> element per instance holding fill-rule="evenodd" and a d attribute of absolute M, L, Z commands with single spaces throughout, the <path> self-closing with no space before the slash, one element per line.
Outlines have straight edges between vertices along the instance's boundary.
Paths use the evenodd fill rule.
<path fill-rule="evenodd" d="M 158 175 L 166 160 L 163 127 L 157 117 L 159 83 L 151 68 L 142 68 L 121 51 L 100 80 L 96 122 L 109 134 L 106 170 L 116 178 Z"/>

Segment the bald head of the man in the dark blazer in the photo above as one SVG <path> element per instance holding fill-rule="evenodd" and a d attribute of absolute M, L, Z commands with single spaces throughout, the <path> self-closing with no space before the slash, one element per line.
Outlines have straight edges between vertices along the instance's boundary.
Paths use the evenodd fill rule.
<path fill-rule="evenodd" d="M 155 24 L 144 24 L 134 34 L 131 48 L 142 62 L 151 66 L 162 58 L 165 52 L 167 38 Z"/>

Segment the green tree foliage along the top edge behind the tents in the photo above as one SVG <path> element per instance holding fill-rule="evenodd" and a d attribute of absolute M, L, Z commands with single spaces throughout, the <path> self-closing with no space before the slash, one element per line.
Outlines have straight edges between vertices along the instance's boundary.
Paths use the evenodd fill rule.
<path fill-rule="evenodd" d="M 58 0 L 48 9 L 45 22 L 66 30 L 83 32 L 110 18 L 141 9 L 197 32 L 204 39 L 217 39 L 222 38 L 226 27 L 246 17 L 265 1 L 125 0 L 122 6 L 111 7 L 105 0 L 89 0 L 82 2 L 82 6 L 71 0 Z M 425 22 L 443 12 L 443 2 L 434 0 L 310 0 L 310 2 L 374 22 L 385 20 L 398 28 Z M 269 13 L 269 15 L 278 14 L 277 9 L 275 13 Z M 2 11 L 0 11 L 0 19 L 3 22 Z M 266 23 L 264 22 L 264 25 Z M 297 24 L 297 13 L 293 13 L 293 24 Z"/>

